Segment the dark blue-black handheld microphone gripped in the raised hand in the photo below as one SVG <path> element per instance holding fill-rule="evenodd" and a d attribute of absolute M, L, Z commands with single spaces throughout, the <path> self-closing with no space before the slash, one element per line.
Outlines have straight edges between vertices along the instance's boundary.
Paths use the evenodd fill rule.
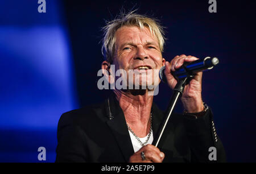
<path fill-rule="evenodd" d="M 175 72 L 171 71 L 171 73 L 176 79 L 179 79 L 179 78 L 191 76 L 200 71 L 212 69 L 218 63 L 219 61 L 217 57 L 213 57 L 213 58 L 205 57 L 204 59 L 192 61 L 191 63 L 187 63 L 187 64 L 185 63 Z M 164 69 L 166 69 L 166 66 L 163 66 L 162 68 L 160 68 L 159 77 L 163 82 L 167 82 L 166 75 L 164 74 Z"/>

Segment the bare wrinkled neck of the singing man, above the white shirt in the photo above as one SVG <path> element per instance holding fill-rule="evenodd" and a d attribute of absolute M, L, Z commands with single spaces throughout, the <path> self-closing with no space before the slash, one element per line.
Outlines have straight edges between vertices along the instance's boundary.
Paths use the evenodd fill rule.
<path fill-rule="evenodd" d="M 150 130 L 150 113 L 153 96 L 147 92 L 137 93 L 114 90 L 126 123 L 139 137 L 144 137 Z M 136 93 L 136 92 L 135 92 Z"/>

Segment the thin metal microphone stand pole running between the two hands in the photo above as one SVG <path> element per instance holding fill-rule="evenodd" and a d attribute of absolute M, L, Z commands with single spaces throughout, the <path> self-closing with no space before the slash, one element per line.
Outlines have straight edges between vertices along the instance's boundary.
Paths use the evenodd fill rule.
<path fill-rule="evenodd" d="M 163 135 L 163 132 L 164 132 L 164 129 L 166 128 L 168 120 L 171 117 L 171 114 L 172 114 L 172 111 L 174 110 L 177 99 L 179 98 L 180 95 L 182 96 L 185 85 L 187 85 L 189 83 L 189 81 L 191 80 L 192 77 L 193 77 L 193 75 L 190 75 L 187 77 L 179 78 L 177 80 L 177 84 L 174 88 L 174 93 L 172 94 L 172 98 L 171 98 L 169 105 L 167 107 L 167 110 L 166 110 L 166 117 L 163 119 L 163 121 L 160 125 L 160 129 L 158 131 L 156 139 L 154 139 L 152 142 L 152 145 L 154 145 L 155 147 L 158 147 L 159 141 Z"/>

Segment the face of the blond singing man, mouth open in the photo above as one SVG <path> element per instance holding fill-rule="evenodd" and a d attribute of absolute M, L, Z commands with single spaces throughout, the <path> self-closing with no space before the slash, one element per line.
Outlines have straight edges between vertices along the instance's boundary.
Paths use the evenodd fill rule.
<path fill-rule="evenodd" d="M 159 48 L 158 39 L 153 36 L 147 27 L 121 27 L 116 32 L 115 40 L 115 69 L 124 69 L 129 79 L 129 70 L 135 70 L 139 76 L 135 76 L 141 85 L 143 81 L 153 85 L 154 70 L 159 70 L 165 60 Z M 158 78 L 158 74 L 155 73 Z M 150 81 L 149 81 L 150 80 Z M 149 84 L 149 83 L 150 84 Z M 157 85 L 157 84 L 155 84 Z"/>

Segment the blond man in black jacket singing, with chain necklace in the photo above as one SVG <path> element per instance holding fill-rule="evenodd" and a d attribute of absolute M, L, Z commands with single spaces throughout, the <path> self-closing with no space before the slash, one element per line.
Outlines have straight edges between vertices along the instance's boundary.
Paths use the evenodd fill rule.
<path fill-rule="evenodd" d="M 184 88 L 183 114 L 172 114 L 162 138 L 155 147 L 164 114 L 153 102 L 148 86 L 159 79 L 153 70 L 166 66 L 167 84 L 174 89 L 175 72 L 184 63 L 197 60 L 180 55 L 166 61 L 162 57 L 163 27 L 157 20 L 134 12 L 119 15 L 104 27 L 102 71 L 111 83 L 114 71 L 122 69 L 127 79 L 139 81 L 138 88 L 113 89 L 102 105 L 91 105 L 61 115 L 57 128 L 56 162 L 212 162 L 225 161 L 225 151 L 216 134 L 213 114 L 202 101 L 202 72 L 196 73 Z M 141 74 L 138 79 L 130 75 Z M 132 77 L 129 77 L 132 76 Z M 153 75 L 154 76 L 154 75 Z M 159 78 L 159 77 L 158 77 Z M 150 79 L 150 80 L 149 80 Z M 148 82 L 150 81 L 150 84 Z M 142 88 L 146 82 L 146 87 Z M 209 148 L 216 150 L 210 158 Z"/>

